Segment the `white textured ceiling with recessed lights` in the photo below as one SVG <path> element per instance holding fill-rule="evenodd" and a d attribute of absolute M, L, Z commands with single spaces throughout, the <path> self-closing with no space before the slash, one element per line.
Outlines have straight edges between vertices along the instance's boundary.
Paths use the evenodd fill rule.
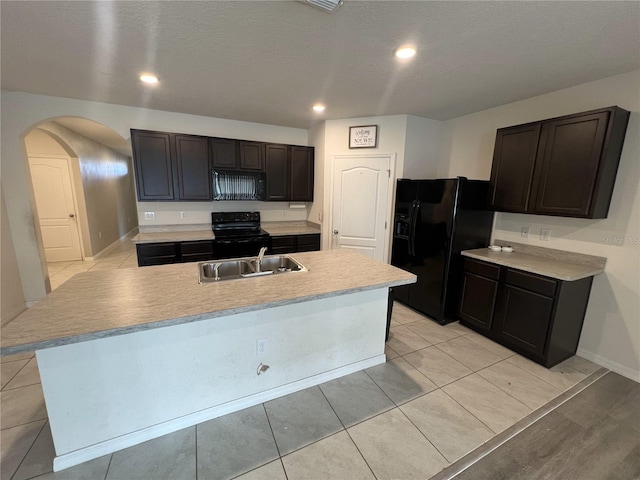
<path fill-rule="evenodd" d="M 638 1 L 345 0 L 333 14 L 297 1 L 0 9 L 4 89 L 298 128 L 444 120 L 640 68 Z M 418 55 L 401 63 L 392 52 L 405 43 Z M 142 71 L 160 85 L 143 87 Z M 318 101 L 321 116 L 310 108 Z"/>

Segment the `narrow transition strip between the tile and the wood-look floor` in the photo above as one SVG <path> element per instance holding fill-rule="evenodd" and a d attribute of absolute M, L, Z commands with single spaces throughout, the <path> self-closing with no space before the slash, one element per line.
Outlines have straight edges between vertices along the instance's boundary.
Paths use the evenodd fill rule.
<path fill-rule="evenodd" d="M 518 422 L 513 424 L 511 427 L 503 430 L 495 437 L 487 440 L 484 444 L 480 445 L 475 450 L 469 452 L 467 455 L 458 459 L 456 462 L 452 463 L 449 467 L 442 470 L 440 473 L 432 476 L 429 480 L 450 480 L 454 478 L 456 475 L 462 473 L 469 467 L 471 467 L 476 462 L 480 461 L 491 452 L 504 445 L 507 441 L 511 440 L 513 437 L 523 432 L 525 429 L 533 425 L 535 422 L 545 417 L 555 409 L 557 409 L 563 403 L 569 401 L 571 398 L 575 397 L 577 394 L 582 392 L 585 388 L 592 385 L 604 375 L 609 372 L 608 369 L 601 367 L 596 372 L 587 376 L 579 383 L 561 393 L 542 407 L 534 410 L 526 417 L 520 419 Z"/>

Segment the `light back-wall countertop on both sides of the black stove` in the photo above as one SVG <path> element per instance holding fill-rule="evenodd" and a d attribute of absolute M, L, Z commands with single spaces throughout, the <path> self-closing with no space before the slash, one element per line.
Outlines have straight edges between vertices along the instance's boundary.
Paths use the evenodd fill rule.
<path fill-rule="evenodd" d="M 269 235 L 307 235 L 320 233 L 320 229 L 307 222 L 262 222 L 260 227 Z M 209 224 L 141 226 L 133 243 L 192 242 L 213 240 L 215 235 Z"/>

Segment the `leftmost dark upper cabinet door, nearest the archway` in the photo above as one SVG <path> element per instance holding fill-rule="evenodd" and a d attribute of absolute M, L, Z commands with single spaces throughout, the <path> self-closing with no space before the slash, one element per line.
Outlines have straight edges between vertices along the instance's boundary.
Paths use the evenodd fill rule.
<path fill-rule="evenodd" d="M 131 130 L 138 200 L 173 200 L 171 134 Z"/>

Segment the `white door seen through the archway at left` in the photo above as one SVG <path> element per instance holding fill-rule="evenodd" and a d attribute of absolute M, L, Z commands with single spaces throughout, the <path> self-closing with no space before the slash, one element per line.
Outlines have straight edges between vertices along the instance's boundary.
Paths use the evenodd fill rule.
<path fill-rule="evenodd" d="M 82 260 L 68 158 L 29 158 L 47 262 Z"/>

